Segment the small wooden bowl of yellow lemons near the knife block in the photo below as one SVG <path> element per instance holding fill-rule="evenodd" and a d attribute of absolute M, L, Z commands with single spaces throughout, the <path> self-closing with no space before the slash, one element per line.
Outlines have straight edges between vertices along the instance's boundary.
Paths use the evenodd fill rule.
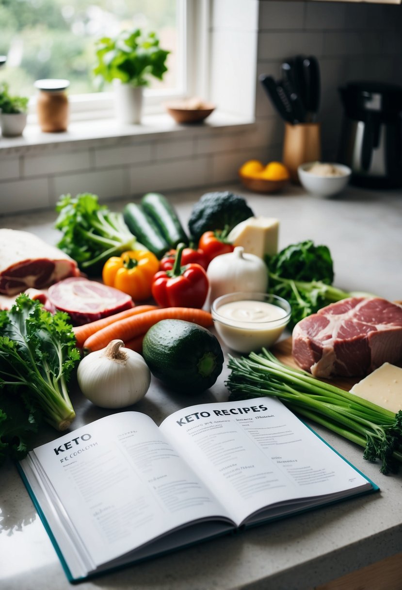
<path fill-rule="evenodd" d="M 239 169 L 239 178 L 250 191 L 263 194 L 281 191 L 289 182 L 289 171 L 282 162 L 248 160 Z"/>

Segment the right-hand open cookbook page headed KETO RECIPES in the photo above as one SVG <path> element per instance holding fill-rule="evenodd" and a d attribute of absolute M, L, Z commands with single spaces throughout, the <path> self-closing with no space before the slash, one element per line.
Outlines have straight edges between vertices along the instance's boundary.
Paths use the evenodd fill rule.
<path fill-rule="evenodd" d="M 195 405 L 160 429 L 237 525 L 275 503 L 367 486 L 276 398 Z"/>

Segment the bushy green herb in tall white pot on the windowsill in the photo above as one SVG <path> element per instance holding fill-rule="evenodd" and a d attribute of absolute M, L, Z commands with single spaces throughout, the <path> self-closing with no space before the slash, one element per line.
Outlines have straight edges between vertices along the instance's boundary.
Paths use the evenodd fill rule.
<path fill-rule="evenodd" d="M 141 122 L 143 89 L 152 77 L 162 80 L 169 53 L 159 47 L 156 33 L 140 29 L 97 41 L 95 83 L 114 83 L 116 116 L 120 122 Z"/>

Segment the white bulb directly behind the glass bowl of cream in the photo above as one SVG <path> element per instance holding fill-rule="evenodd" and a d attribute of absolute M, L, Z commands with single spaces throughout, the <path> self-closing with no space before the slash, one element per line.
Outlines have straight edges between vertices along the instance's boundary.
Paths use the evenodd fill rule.
<path fill-rule="evenodd" d="M 236 246 L 229 254 L 213 258 L 207 268 L 212 303 L 217 297 L 236 291 L 266 293 L 268 268 L 255 254 L 247 254 L 242 246 Z"/>

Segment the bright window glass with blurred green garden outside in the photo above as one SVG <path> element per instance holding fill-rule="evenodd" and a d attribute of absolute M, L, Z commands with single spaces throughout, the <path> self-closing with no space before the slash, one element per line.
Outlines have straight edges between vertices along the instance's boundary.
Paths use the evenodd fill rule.
<path fill-rule="evenodd" d="M 111 109 L 111 89 L 94 86 L 95 40 L 120 30 L 144 28 L 157 32 L 170 50 L 163 81 L 153 80 L 146 92 L 148 106 L 161 98 L 191 94 L 187 76 L 189 16 L 196 0 L 2 0 L 0 54 L 7 57 L 0 81 L 12 94 L 34 96 L 39 78 L 70 80 L 73 112 Z M 202 3 L 200 3 L 202 4 Z"/>

